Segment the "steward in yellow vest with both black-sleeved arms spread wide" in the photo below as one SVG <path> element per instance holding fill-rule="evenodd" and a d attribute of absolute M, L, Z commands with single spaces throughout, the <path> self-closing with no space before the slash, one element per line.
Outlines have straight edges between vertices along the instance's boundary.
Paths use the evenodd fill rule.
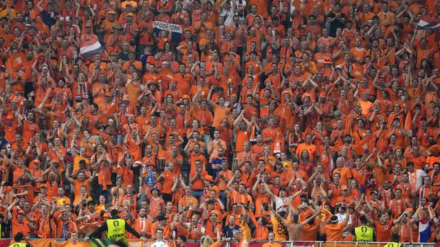
<path fill-rule="evenodd" d="M 108 239 L 125 239 L 125 231 L 135 235 L 135 237 L 140 238 L 145 241 L 144 237 L 141 237 L 130 224 L 126 224 L 125 220 L 119 218 L 119 212 L 116 209 L 111 211 L 111 219 L 106 220 L 98 229 L 85 238 L 100 238 L 102 232 L 107 231 Z"/>

